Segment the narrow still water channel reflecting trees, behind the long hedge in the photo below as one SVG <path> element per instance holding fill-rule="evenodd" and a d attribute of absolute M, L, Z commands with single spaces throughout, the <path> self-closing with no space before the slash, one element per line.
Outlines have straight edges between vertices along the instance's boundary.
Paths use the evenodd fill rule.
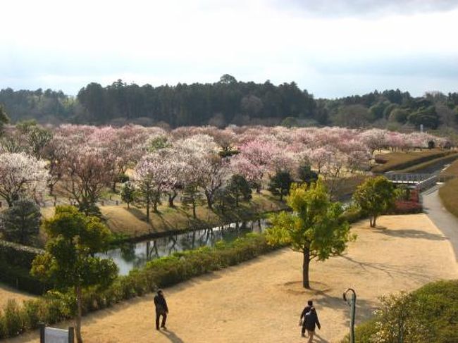
<path fill-rule="evenodd" d="M 232 242 L 248 232 L 262 232 L 267 223 L 265 219 L 243 223 L 213 227 L 212 229 L 196 230 L 178 235 L 170 235 L 156 239 L 147 239 L 143 242 L 126 243 L 122 247 L 98 254 L 101 257 L 113 258 L 119 268 L 120 275 L 127 275 L 134 268 L 141 268 L 147 261 L 162 256 L 168 256 L 177 251 L 196 249 L 199 247 L 213 247 L 223 240 Z"/>

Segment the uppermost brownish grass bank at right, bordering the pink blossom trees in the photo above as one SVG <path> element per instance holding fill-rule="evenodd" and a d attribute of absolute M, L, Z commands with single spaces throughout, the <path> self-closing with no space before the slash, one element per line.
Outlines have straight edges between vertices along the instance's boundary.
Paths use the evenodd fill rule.
<path fill-rule="evenodd" d="M 376 161 L 383 162 L 372 168 L 373 173 L 385 173 L 390 170 L 402 170 L 436 158 L 456 154 L 453 150 L 431 149 L 423 151 L 395 151 L 376 156 Z"/>

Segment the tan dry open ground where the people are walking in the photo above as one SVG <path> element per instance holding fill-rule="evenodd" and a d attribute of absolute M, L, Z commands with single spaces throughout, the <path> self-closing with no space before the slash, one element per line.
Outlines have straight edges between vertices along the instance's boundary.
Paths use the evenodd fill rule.
<path fill-rule="evenodd" d="M 312 263 L 311 291 L 301 288 L 302 256 L 283 249 L 165 289 L 168 332 L 154 329 L 149 295 L 84 318 L 85 342 L 304 342 L 297 323 L 307 299 L 314 299 L 322 324 L 316 342 L 339 342 L 347 332 L 347 287 L 357 290 L 361 322 L 382 294 L 458 277 L 450 242 L 426 215 L 385 216 L 378 224 L 386 229 L 367 224 L 354 225 L 358 239 L 345 256 Z"/>

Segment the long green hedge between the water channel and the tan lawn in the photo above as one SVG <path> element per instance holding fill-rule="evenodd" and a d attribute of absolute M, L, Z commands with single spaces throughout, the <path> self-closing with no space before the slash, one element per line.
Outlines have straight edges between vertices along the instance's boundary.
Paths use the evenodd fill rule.
<path fill-rule="evenodd" d="M 213 248 L 204 247 L 158 258 L 140 270 L 118 277 L 108 289 L 87 289 L 83 295 L 83 313 L 154 292 L 158 287 L 175 285 L 194 276 L 234 266 L 279 247 L 268 245 L 264 235 L 248 234 L 235 242 L 218 242 Z M 75 298 L 71 292 L 48 292 L 39 299 L 24 301 L 23 306 L 9 301 L 0 311 L 0 339 L 37 328 L 39 322 L 54 324 L 72 318 L 73 313 Z"/>

